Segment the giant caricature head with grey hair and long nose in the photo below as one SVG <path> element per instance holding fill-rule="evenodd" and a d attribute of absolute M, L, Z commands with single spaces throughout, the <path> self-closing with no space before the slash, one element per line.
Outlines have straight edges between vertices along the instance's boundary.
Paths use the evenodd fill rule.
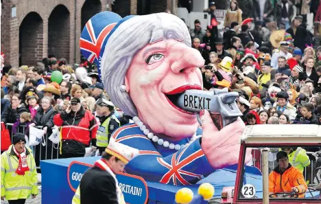
<path fill-rule="evenodd" d="M 139 116 L 154 133 L 193 135 L 196 115 L 182 111 L 168 97 L 202 89 L 198 67 L 203 67 L 204 59 L 191 48 L 185 23 L 166 13 L 126 18 L 101 52 L 102 79 L 110 100 L 127 115 Z"/>

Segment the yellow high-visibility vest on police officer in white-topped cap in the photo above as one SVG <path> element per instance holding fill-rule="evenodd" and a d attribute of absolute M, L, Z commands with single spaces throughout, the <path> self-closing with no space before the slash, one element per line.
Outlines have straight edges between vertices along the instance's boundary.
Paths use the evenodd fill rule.
<path fill-rule="evenodd" d="M 115 120 L 119 126 L 120 122 L 114 115 L 108 117 L 99 127 L 96 134 L 96 145 L 97 147 L 107 147 L 108 146 L 108 127 L 110 120 Z"/>

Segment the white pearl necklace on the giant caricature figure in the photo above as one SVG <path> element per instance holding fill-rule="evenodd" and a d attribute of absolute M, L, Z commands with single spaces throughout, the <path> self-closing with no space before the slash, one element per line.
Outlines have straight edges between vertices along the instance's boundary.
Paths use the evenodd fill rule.
<path fill-rule="evenodd" d="M 135 124 L 137 126 L 139 126 L 139 128 L 141 129 L 141 131 L 143 131 L 144 135 L 146 135 L 148 137 L 148 139 L 151 139 L 152 141 L 154 141 L 155 143 L 157 143 L 158 145 L 163 145 L 165 148 L 169 148 L 171 150 L 180 150 L 182 148 L 185 148 L 186 146 L 189 146 L 189 144 L 191 144 L 193 141 L 195 141 L 195 139 L 198 139 L 198 137 L 200 136 L 196 136 L 196 133 L 193 135 L 193 137 L 191 137 L 191 139 L 189 140 L 189 142 L 187 142 L 187 144 L 173 144 L 173 143 L 169 143 L 169 141 L 164 141 L 164 139 L 160 139 L 158 138 L 157 135 L 154 135 L 154 133 L 151 133 L 149 129 L 146 128 L 146 126 L 143 124 L 143 122 L 141 122 L 141 120 L 139 119 L 139 117 L 134 116 L 132 117 L 132 120 L 135 122 Z"/>

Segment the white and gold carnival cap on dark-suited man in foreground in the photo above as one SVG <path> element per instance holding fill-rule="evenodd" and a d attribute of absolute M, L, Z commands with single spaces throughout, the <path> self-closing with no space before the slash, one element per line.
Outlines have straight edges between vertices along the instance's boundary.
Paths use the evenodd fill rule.
<path fill-rule="evenodd" d="M 139 150 L 132 148 L 125 144 L 117 143 L 115 139 L 110 138 L 109 144 L 105 149 L 108 154 L 117 157 L 123 163 L 128 163 L 130 160 L 134 159 L 139 155 Z"/>

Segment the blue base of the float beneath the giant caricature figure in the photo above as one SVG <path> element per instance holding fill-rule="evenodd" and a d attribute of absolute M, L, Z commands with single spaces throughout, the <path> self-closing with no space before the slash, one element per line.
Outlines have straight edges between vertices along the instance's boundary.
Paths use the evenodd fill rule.
<path fill-rule="evenodd" d="M 100 157 L 80 157 L 71 159 L 53 159 L 40 161 L 42 176 L 42 203 L 43 204 L 67 204 L 71 203 L 75 192 L 71 189 L 68 182 L 68 167 L 72 161 L 79 161 L 93 165 Z M 89 168 L 89 167 L 88 167 Z M 261 172 L 256 168 L 247 167 L 247 183 L 257 184 L 257 192 L 261 192 Z M 198 184 L 190 185 L 188 188 L 193 190 L 194 194 L 198 192 L 198 186 L 201 183 L 211 183 L 215 188 L 215 197 L 221 196 L 222 189 L 227 186 L 235 185 L 236 168 L 225 168 L 217 170 Z M 174 203 L 176 192 L 182 186 L 166 185 L 156 182 L 146 181 L 148 186 L 148 203 Z M 258 188 L 257 188 L 258 187 Z M 124 194 L 126 199 L 126 194 Z M 142 203 L 143 204 L 143 203 Z"/>

